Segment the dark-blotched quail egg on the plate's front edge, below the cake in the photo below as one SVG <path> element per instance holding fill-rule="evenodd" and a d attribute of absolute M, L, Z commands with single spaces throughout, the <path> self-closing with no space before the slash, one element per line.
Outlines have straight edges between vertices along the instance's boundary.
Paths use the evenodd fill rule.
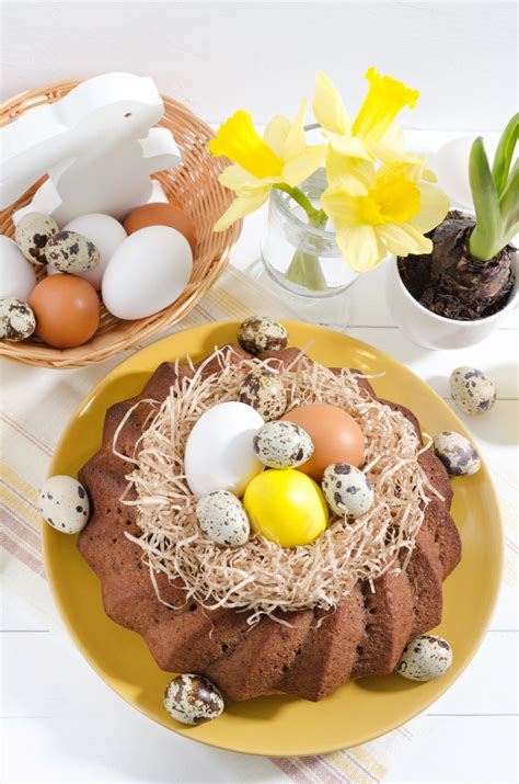
<path fill-rule="evenodd" d="M 164 707 L 182 724 L 204 724 L 218 718 L 226 707 L 219 690 L 201 675 L 174 678 L 164 693 Z"/>

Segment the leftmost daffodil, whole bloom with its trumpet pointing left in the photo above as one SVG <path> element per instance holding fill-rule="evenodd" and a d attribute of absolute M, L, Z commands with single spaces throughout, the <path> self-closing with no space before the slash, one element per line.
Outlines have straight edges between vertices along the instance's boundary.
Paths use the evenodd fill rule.
<path fill-rule="evenodd" d="M 319 212 L 297 188 L 324 166 L 327 151 L 326 145 L 307 145 L 305 112 L 307 102 L 302 101 L 293 123 L 280 115 L 274 117 L 262 139 L 251 115 L 240 110 L 209 141 L 208 149 L 212 155 L 227 156 L 234 161 L 220 174 L 219 181 L 237 194 L 215 225 L 215 231 L 224 231 L 235 220 L 261 207 L 273 188 L 290 193 L 309 217 Z"/>

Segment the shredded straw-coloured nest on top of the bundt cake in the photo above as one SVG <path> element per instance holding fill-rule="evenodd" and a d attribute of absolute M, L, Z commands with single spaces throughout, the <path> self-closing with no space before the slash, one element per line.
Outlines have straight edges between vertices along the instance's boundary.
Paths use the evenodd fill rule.
<path fill-rule="evenodd" d="M 204 368 L 215 359 L 218 371 L 206 375 Z M 338 406 L 366 436 L 362 470 L 373 487 L 373 507 L 356 520 L 331 513 L 327 530 L 310 545 L 281 548 L 251 535 L 241 547 L 222 547 L 196 521 L 196 498 L 184 475 L 187 436 L 208 408 L 237 400 L 244 376 L 260 367 L 282 377 L 288 409 L 311 402 Z M 243 360 L 232 349 L 217 349 L 192 378 L 177 379 L 162 404 L 141 401 L 150 406 L 150 414 L 136 444 L 137 457 L 117 452 L 118 434 L 134 409 L 128 411 L 114 436 L 114 453 L 134 465 L 122 501 L 137 505 L 142 533 L 127 536 L 142 548 L 161 601 L 158 572 L 182 578 L 186 601 L 195 599 L 206 610 L 249 611 L 251 624 L 264 614 L 289 623 L 279 611 L 333 610 L 358 580 L 372 587 L 385 570 L 405 568 L 428 503 L 426 489 L 434 488 L 417 462 L 423 446 L 412 423 L 373 400 L 358 377 L 348 370 L 336 375 L 302 354 L 284 368 L 279 360 Z M 403 553 L 407 557 L 402 564 Z"/>

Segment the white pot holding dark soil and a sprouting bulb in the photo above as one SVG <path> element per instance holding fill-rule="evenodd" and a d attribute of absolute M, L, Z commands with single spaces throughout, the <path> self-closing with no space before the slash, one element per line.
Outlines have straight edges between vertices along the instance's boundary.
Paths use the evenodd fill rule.
<path fill-rule="evenodd" d="M 494 332 L 505 314 L 517 304 L 517 253 L 515 254 L 516 283 L 508 303 L 493 316 L 474 321 L 457 321 L 428 310 L 411 296 L 402 283 L 395 257 L 391 257 L 387 263 L 387 296 L 393 319 L 406 338 L 425 349 L 464 349 L 468 345 L 475 345 Z"/>

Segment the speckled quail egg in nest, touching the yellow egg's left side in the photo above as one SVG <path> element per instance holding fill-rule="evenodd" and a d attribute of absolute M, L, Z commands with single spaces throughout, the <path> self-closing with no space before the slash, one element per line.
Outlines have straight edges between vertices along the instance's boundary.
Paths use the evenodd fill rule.
<path fill-rule="evenodd" d="M 196 504 L 201 531 L 219 545 L 244 545 L 251 533 L 241 501 L 228 490 L 212 490 Z"/>

